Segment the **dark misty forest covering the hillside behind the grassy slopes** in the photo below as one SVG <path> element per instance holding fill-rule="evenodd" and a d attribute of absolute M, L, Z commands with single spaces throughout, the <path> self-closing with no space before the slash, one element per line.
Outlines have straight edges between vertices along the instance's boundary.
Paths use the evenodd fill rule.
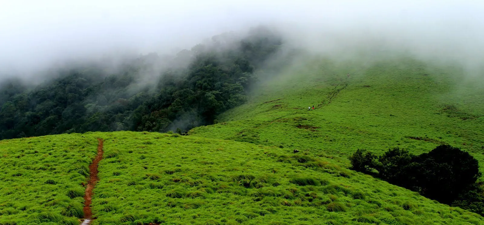
<path fill-rule="evenodd" d="M 185 131 L 241 105 L 257 70 L 282 45 L 264 27 L 225 33 L 176 56 L 156 53 L 63 66 L 30 87 L 0 84 L 0 139 L 88 131 Z M 112 67 L 112 66 L 111 66 Z M 177 129 L 178 128 L 178 129 Z"/>

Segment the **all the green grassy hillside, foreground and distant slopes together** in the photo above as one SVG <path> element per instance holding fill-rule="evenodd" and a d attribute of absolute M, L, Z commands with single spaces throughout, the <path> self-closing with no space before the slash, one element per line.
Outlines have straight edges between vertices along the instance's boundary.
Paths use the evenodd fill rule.
<path fill-rule="evenodd" d="M 0 224 L 75 224 L 96 138 L 105 143 L 94 225 L 484 224 L 478 214 L 351 171 L 347 159 L 357 148 L 417 154 L 448 143 L 482 167 L 480 83 L 415 60 L 356 65 L 316 60 L 288 69 L 188 136 L 1 141 Z"/>

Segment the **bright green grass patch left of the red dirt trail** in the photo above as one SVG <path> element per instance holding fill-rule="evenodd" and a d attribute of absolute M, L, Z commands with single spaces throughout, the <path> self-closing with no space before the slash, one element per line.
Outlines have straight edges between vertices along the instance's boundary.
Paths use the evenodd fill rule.
<path fill-rule="evenodd" d="M 0 141 L 0 224 L 78 225 L 96 146 L 78 134 Z"/>

